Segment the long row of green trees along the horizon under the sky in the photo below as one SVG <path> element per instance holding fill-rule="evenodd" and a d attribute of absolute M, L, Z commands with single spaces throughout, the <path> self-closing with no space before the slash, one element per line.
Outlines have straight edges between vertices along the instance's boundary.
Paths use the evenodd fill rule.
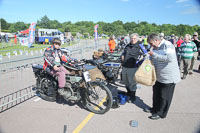
<path fill-rule="evenodd" d="M 162 24 L 157 25 L 155 23 L 148 23 L 146 21 L 141 21 L 136 24 L 136 22 L 126 22 L 123 23 L 121 20 L 114 21 L 112 23 L 106 23 L 103 21 L 99 21 L 94 23 L 92 21 L 79 21 L 76 23 L 72 23 L 71 21 L 66 21 L 64 23 L 60 23 L 57 20 L 50 20 L 46 15 L 43 16 L 40 20 L 37 21 L 36 28 L 51 28 L 58 29 L 61 32 L 72 32 L 75 34 L 76 32 L 82 33 L 84 35 L 94 34 L 94 25 L 99 24 L 98 33 L 106 34 L 106 35 L 125 35 L 131 33 L 138 33 L 139 35 L 149 35 L 151 33 L 161 33 L 163 32 L 165 35 L 175 34 L 178 36 L 184 36 L 185 34 L 193 34 L 194 32 L 198 32 L 200 34 L 200 26 L 199 25 L 172 25 L 172 24 Z M 30 26 L 30 24 L 25 24 L 24 22 L 17 23 L 7 23 L 6 20 L 1 18 L 1 27 L 2 30 L 9 30 L 11 32 L 16 32 L 19 30 L 25 30 Z"/>

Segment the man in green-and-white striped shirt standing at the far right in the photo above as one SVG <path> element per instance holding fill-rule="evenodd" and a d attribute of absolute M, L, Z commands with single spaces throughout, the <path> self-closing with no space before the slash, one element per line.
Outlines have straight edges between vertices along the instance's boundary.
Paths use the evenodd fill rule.
<path fill-rule="evenodd" d="M 181 44 L 179 48 L 179 55 L 183 60 L 183 77 L 182 79 L 186 79 L 186 76 L 189 72 L 191 72 L 191 63 L 194 58 L 194 53 L 197 52 L 197 47 L 194 42 L 191 41 L 191 35 L 185 34 L 185 41 Z"/>

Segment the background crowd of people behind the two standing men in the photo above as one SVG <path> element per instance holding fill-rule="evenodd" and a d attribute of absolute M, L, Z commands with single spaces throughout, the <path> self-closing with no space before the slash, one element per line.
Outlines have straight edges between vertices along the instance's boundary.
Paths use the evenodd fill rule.
<path fill-rule="evenodd" d="M 126 36 L 127 37 L 127 36 Z M 194 62 L 200 59 L 200 40 L 198 39 L 198 33 L 194 32 L 193 36 L 190 34 L 185 34 L 185 36 L 165 36 L 164 33 L 159 34 L 160 39 L 165 39 L 174 45 L 176 50 L 176 56 L 178 61 L 178 66 L 180 69 L 181 78 L 186 79 L 187 75 L 193 74 Z M 148 36 L 139 36 L 138 43 L 142 44 L 146 50 L 150 50 L 151 45 L 147 42 Z M 127 41 L 125 37 L 121 37 L 115 41 L 114 37 L 109 39 L 109 50 L 112 53 L 115 48 L 124 49 L 130 41 Z M 183 73 L 183 74 L 182 74 Z"/>

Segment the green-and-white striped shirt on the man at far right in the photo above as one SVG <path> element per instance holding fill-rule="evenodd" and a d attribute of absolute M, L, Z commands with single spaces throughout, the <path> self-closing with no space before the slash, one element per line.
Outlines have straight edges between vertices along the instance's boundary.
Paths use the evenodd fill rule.
<path fill-rule="evenodd" d="M 194 42 L 183 42 L 178 51 L 178 55 L 181 55 L 182 59 L 192 59 L 194 52 L 197 52 L 197 46 Z"/>

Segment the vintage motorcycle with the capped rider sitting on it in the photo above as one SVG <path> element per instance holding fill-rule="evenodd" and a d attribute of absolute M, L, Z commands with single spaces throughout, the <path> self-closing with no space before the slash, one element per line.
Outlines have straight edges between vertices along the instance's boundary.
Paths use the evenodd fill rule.
<path fill-rule="evenodd" d="M 70 102 L 80 101 L 89 111 L 104 114 L 112 106 L 112 94 L 103 82 L 91 81 L 84 64 L 84 62 L 81 62 L 77 64 L 77 67 L 64 65 L 73 74 L 66 75 L 66 87 L 64 89 L 67 93 L 63 98 Z M 56 101 L 56 97 L 59 96 L 57 77 L 44 70 L 42 65 L 33 65 L 32 68 L 41 98 L 47 101 Z M 52 90 L 54 90 L 53 95 L 49 94 Z"/>

